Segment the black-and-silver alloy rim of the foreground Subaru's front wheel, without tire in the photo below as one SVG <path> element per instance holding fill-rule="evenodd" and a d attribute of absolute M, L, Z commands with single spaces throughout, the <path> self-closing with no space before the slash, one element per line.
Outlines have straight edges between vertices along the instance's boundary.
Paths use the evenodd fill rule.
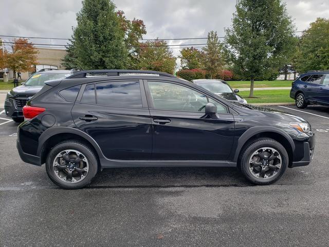
<path fill-rule="evenodd" d="M 281 166 L 282 158 L 275 148 L 260 148 L 249 158 L 249 171 L 257 179 L 266 180 L 275 177 Z"/>

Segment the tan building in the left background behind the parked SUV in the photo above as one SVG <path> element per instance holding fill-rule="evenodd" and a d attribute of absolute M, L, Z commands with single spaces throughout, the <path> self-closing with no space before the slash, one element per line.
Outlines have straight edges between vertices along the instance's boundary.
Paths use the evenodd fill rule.
<path fill-rule="evenodd" d="M 62 66 L 62 59 L 66 54 L 66 50 L 52 49 L 52 48 L 37 48 L 37 49 L 38 49 L 38 59 L 37 59 L 38 63 L 34 65 L 34 72 L 37 72 L 42 68 L 65 69 Z M 34 72 L 22 72 L 21 77 L 23 80 L 26 80 Z M 13 78 L 13 72 L 12 70 L 9 69 L 9 79 L 12 78 Z"/>

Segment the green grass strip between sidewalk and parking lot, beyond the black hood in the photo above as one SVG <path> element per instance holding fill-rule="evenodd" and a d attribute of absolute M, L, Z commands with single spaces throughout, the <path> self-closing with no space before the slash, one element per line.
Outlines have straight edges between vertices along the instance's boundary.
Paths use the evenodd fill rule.
<path fill-rule="evenodd" d="M 239 95 L 244 97 L 248 103 L 289 103 L 294 99 L 289 97 L 290 90 L 258 90 L 253 91 L 253 96 L 258 98 L 248 98 L 249 91 L 240 92 Z"/>

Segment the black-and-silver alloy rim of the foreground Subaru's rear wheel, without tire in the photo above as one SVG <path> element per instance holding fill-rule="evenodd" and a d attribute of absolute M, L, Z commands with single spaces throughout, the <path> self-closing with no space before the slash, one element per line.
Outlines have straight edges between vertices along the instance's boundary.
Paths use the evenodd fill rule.
<path fill-rule="evenodd" d="M 56 155 L 52 169 L 57 178 L 65 183 L 82 181 L 89 170 L 86 156 L 73 149 L 63 150 Z"/>

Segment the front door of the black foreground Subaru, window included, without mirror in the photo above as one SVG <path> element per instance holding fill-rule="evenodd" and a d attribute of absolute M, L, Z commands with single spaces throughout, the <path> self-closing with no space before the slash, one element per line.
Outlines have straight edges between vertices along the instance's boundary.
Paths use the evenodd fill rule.
<path fill-rule="evenodd" d="M 153 160 L 225 161 L 234 138 L 234 118 L 225 105 L 174 82 L 145 83 L 153 127 Z M 204 118 L 217 105 L 219 119 Z"/>

